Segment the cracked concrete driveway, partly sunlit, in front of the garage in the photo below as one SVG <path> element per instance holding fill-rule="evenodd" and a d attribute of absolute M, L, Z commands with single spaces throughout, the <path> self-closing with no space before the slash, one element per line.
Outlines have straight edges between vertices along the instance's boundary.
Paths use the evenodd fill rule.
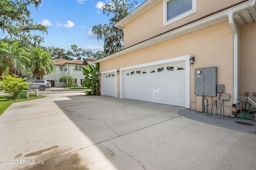
<path fill-rule="evenodd" d="M 83 93 L 14 103 L 0 116 L 0 169 L 255 169 L 256 135 L 183 109 Z"/>

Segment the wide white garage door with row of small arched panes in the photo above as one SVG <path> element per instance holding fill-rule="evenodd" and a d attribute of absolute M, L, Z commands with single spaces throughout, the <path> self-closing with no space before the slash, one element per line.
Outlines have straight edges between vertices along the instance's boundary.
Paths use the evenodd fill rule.
<path fill-rule="evenodd" d="M 185 107 L 186 64 L 125 70 L 124 98 Z"/>

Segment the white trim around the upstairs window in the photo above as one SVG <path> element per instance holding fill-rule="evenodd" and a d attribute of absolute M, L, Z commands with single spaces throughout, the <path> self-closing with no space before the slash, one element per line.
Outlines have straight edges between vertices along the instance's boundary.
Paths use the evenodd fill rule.
<path fill-rule="evenodd" d="M 182 18 L 185 18 L 187 16 L 190 16 L 191 14 L 194 14 L 196 11 L 197 11 L 197 0 L 192 0 L 192 10 L 189 10 L 188 12 L 185 12 L 183 14 L 180 14 L 179 16 L 176 16 L 175 18 L 172 18 L 171 20 L 167 21 L 167 2 L 170 1 L 170 0 L 164 0 L 164 6 L 163 6 L 163 12 L 164 12 L 164 27 L 171 24 L 171 23 L 174 23 L 178 20 L 181 20 Z"/>

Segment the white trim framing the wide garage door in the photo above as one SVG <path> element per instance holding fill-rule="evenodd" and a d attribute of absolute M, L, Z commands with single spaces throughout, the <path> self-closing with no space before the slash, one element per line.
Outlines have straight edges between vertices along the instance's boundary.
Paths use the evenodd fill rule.
<path fill-rule="evenodd" d="M 138 64 L 138 65 L 134 65 L 134 66 L 120 68 L 120 98 L 124 98 L 124 73 L 126 72 L 126 70 L 185 60 L 185 63 L 186 63 L 185 108 L 190 109 L 190 60 L 189 59 L 190 59 L 190 55 L 184 55 L 184 56 L 175 57 L 175 58 L 171 58 L 171 59 L 153 61 L 150 63 L 144 63 L 144 64 Z"/>

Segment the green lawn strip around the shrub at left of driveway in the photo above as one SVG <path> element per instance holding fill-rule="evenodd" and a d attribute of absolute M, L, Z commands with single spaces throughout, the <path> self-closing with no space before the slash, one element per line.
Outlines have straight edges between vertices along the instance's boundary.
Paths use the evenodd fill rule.
<path fill-rule="evenodd" d="M 29 96 L 33 96 L 35 95 L 34 93 L 30 93 Z M 34 100 L 34 99 L 40 99 L 40 98 L 44 98 L 46 96 L 43 96 L 41 94 L 38 95 L 38 97 L 30 97 L 28 99 L 16 99 L 16 100 L 12 100 L 12 99 L 7 99 L 5 97 L 8 97 L 10 95 L 0 95 L 0 115 L 12 104 L 15 102 L 23 102 L 23 101 L 27 101 L 27 100 Z"/>

